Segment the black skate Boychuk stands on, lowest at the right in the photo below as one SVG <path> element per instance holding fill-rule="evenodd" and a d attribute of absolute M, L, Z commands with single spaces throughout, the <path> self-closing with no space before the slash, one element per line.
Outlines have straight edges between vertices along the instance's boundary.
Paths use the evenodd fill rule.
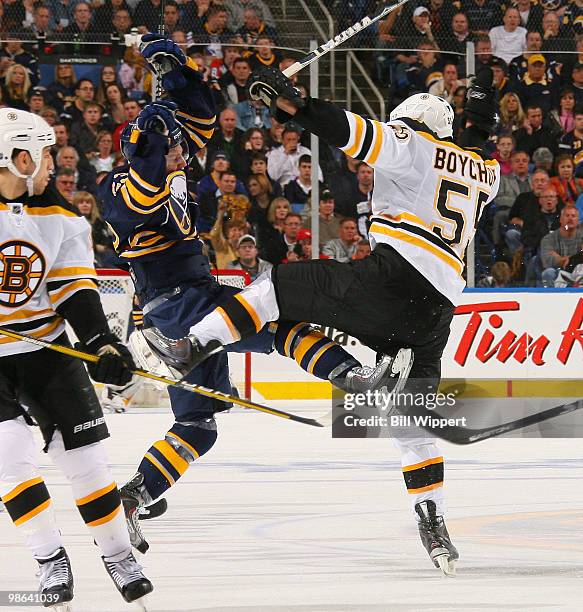
<path fill-rule="evenodd" d="M 415 505 L 419 515 L 419 535 L 425 550 L 446 576 L 455 576 L 455 562 L 459 559 L 456 547 L 451 543 L 443 516 L 436 514 L 435 502 L 428 500 Z"/>

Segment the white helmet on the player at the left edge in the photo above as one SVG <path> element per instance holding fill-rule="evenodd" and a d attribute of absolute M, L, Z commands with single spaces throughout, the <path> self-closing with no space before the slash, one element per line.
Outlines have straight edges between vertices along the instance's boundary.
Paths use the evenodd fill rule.
<path fill-rule="evenodd" d="M 0 108 L 0 168 L 8 168 L 12 174 L 26 179 L 29 195 L 40 170 L 43 149 L 54 144 L 55 132 L 42 117 L 17 108 Z M 12 162 L 14 149 L 30 154 L 35 165 L 31 175 L 21 174 Z"/>

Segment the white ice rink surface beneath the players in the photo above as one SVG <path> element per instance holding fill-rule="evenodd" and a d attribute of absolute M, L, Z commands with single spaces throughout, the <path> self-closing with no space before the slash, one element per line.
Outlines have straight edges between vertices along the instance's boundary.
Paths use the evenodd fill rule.
<path fill-rule="evenodd" d="M 309 416 L 324 404 L 277 403 Z M 171 425 L 167 412 L 111 415 L 123 483 Z M 164 612 L 563 612 L 583 610 L 583 444 L 498 439 L 443 445 L 447 524 L 461 560 L 442 577 L 419 541 L 386 439 L 233 411 L 212 451 L 143 522 L 141 558 Z M 77 612 L 131 610 L 101 565 L 63 477 L 40 454 L 75 574 Z M 36 564 L 0 514 L 0 590 L 34 589 Z M 1 608 L 1 606 L 0 606 Z M 14 610 L 38 610 L 20 607 Z"/>

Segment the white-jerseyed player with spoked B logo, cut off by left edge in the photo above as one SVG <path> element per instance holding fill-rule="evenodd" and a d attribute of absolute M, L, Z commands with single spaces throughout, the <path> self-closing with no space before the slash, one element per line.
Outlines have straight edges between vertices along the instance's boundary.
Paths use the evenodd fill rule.
<path fill-rule="evenodd" d="M 101 356 L 88 365 L 91 377 L 124 385 L 135 365 L 101 306 L 90 226 L 48 186 L 54 143 L 44 119 L 0 109 L 0 325 L 70 346 L 67 321 L 83 350 Z M 40 601 L 68 610 L 73 573 L 36 464 L 33 425 L 71 485 L 87 546 L 95 542 L 124 600 L 141 604 L 152 584 L 131 550 L 102 443 L 107 426 L 83 363 L 0 336 L 0 497 L 39 565 Z"/>

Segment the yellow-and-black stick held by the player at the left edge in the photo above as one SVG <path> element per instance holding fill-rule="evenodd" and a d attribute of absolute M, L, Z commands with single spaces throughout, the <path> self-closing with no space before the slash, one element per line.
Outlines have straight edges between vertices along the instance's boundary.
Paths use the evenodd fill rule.
<path fill-rule="evenodd" d="M 11 329 L 6 329 L 5 327 L 0 327 L 0 334 L 4 334 L 5 336 L 13 338 L 14 340 L 21 340 L 22 342 L 28 342 L 29 344 L 36 344 L 37 346 L 41 346 L 42 348 L 50 349 L 51 351 L 56 351 L 57 353 L 63 353 L 64 355 L 69 355 L 70 357 L 82 359 L 83 361 L 88 361 L 90 363 L 97 363 L 99 361 L 99 357 L 97 355 L 92 355 L 91 353 L 86 353 L 85 351 L 79 351 L 69 346 L 63 346 L 62 344 L 58 344 L 56 342 L 48 342 L 47 340 L 34 338 L 33 336 L 22 334 L 20 332 L 15 332 Z M 157 374 L 152 374 L 151 372 L 146 372 L 145 370 L 140 369 L 132 370 L 132 374 L 135 374 L 136 376 L 142 376 L 143 378 L 149 378 L 150 380 L 162 382 L 165 385 L 178 387 L 179 389 L 184 389 L 184 391 L 198 393 L 199 395 L 204 395 L 205 397 L 210 397 L 221 402 L 233 403 L 239 406 L 243 406 L 243 408 L 249 408 L 251 410 L 258 410 L 259 412 L 265 412 L 266 414 L 271 414 L 282 419 L 296 421 L 297 423 L 304 423 L 305 425 L 312 425 L 313 427 L 324 427 L 322 423 L 319 423 L 315 419 L 307 419 L 296 414 L 284 412 L 283 410 L 277 410 L 276 408 L 268 408 L 267 406 L 256 404 L 255 402 L 252 402 L 250 400 L 241 399 L 240 397 L 235 397 L 234 395 L 228 395 L 227 393 L 223 393 L 222 391 L 207 389 L 206 387 L 202 387 L 201 385 L 194 385 L 192 383 L 187 383 L 182 380 L 173 380 L 172 378 L 168 378 L 166 376 L 158 376 Z"/>

